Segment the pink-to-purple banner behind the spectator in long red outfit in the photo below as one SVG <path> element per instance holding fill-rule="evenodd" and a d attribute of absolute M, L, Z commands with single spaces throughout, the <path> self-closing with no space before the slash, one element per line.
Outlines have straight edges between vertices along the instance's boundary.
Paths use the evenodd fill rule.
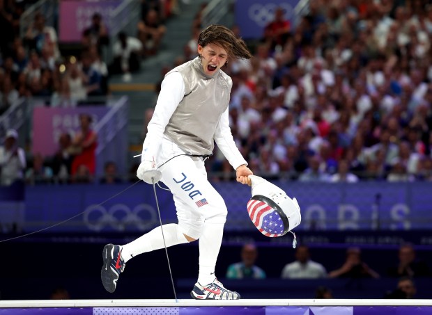
<path fill-rule="evenodd" d="M 105 106 L 79 106 L 76 108 L 36 107 L 33 110 L 33 154 L 51 156 L 59 148 L 59 137 L 63 132 L 72 137 L 79 130 L 79 114 L 88 113 L 93 126 L 108 113 Z"/>

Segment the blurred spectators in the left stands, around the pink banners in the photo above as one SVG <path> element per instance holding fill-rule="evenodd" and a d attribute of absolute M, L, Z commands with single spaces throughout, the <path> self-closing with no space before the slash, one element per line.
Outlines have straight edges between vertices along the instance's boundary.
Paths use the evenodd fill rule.
<path fill-rule="evenodd" d="M 109 76 L 123 74 L 130 81 L 140 70 L 141 60 L 157 54 L 164 22 L 178 14 L 176 0 L 141 1 L 136 33 L 109 34 L 107 21 L 93 13 L 81 34 L 77 49 L 61 51 L 57 30 L 37 12 L 22 32 L 20 17 L 36 0 L 0 0 L 0 115 L 21 99 L 40 99 L 51 107 L 105 105 Z M 107 49 L 112 60 L 105 62 Z M 116 161 L 105 165 L 105 176 L 95 179 L 95 147 L 91 115 L 79 116 L 79 130 L 59 136 L 58 150 L 52 156 L 32 156 L 19 147 L 17 130 L 6 130 L 0 145 L 2 185 L 14 181 L 36 183 L 119 182 Z"/>

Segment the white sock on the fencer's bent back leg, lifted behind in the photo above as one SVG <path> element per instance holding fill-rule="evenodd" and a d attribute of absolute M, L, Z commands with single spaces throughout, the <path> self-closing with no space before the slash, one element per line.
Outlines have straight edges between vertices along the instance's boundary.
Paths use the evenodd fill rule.
<path fill-rule="evenodd" d="M 163 235 L 165 236 L 165 244 L 167 247 L 187 243 L 187 239 L 185 238 L 185 235 L 180 232 L 178 224 L 170 223 L 163 225 L 163 227 Z M 132 257 L 142 254 L 143 252 L 151 252 L 152 250 L 159 250 L 160 248 L 164 247 L 162 229 L 161 227 L 155 227 L 155 229 L 152 229 L 147 234 L 144 234 L 138 239 L 123 245 L 121 257 L 126 262 Z"/>

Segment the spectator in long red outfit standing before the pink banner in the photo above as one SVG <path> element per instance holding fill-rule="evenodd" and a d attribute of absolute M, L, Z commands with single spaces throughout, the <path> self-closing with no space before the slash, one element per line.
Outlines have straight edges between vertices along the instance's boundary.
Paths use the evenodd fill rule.
<path fill-rule="evenodd" d="M 98 135 L 91 129 L 93 118 L 88 114 L 79 115 L 80 130 L 72 140 L 72 147 L 77 150 L 77 154 L 72 161 L 72 177 L 86 178 L 94 175 L 96 169 L 95 151 L 98 145 Z M 81 166 L 84 166 L 82 168 Z M 80 168 L 81 167 L 81 168 Z M 80 170 L 79 174 L 78 171 Z"/>

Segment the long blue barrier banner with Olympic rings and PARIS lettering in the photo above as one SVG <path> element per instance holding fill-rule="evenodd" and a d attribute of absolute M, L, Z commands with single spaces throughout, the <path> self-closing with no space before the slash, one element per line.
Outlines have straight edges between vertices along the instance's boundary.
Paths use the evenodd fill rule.
<path fill-rule="evenodd" d="M 284 189 L 288 196 L 296 197 L 300 204 L 302 223 L 295 231 L 410 231 L 431 227 L 432 183 L 275 184 Z M 130 185 L 27 186 L 26 222 L 29 227 L 38 229 L 84 212 L 83 216 L 77 216 L 55 229 L 142 232 L 154 227 L 159 222 L 153 187 L 144 182 Z M 250 187 L 236 182 L 213 185 L 224 197 L 228 207 L 226 230 L 256 229 L 246 208 L 247 200 L 251 197 Z M 119 192 L 122 192 L 121 195 L 111 198 Z M 157 188 L 157 197 L 162 220 L 176 222 L 171 192 Z M 350 241 L 368 243 L 367 236 Z M 425 242 L 430 245 L 432 239 Z"/>

